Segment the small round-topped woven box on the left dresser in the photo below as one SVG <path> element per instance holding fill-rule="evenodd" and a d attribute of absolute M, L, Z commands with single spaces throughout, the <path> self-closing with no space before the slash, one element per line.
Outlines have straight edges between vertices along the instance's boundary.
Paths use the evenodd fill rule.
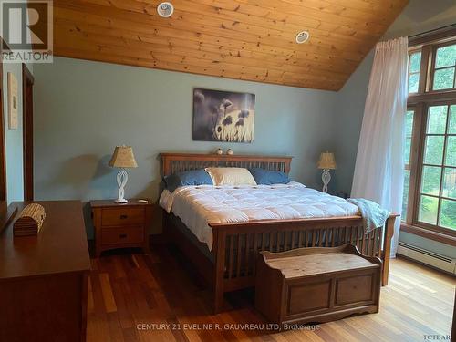
<path fill-rule="evenodd" d="M 37 235 L 46 218 L 45 208 L 38 203 L 28 204 L 13 225 L 15 236 Z"/>

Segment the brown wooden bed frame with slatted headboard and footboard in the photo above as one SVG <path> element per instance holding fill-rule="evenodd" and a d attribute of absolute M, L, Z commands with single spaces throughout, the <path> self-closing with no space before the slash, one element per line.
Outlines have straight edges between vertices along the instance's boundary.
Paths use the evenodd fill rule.
<path fill-rule="evenodd" d="M 205 167 L 263 168 L 288 173 L 291 161 L 292 157 L 161 153 L 161 176 Z M 181 213 L 180 216 L 184 217 Z M 212 287 L 215 312 L 223 309 L 224 293 L 254 286 L 256 255 L 265 250 L 284 252 L 303 247 L 354 244 L 362 254 L 382 260 L 382 285 L 387 285 L 390 244 L 398 215 L 391 214 L 384 227 L 368 234 L 364 234 L 362 218 L 352 208 L 343 208 L 340 216 L 337 211 L 330 216 L 214 222 L 209 223 L 207 229 L 212 232 L 205 232 L 204 239 L 192 233 L 178 215 L 163 210 L 163 233 Z M 210 236 L 210 244 L 207 236 Z"/>

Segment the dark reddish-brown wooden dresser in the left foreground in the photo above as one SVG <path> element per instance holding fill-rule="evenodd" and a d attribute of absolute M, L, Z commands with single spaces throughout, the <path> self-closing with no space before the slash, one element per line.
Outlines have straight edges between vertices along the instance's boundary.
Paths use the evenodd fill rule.
<path fill-rule="evenodd" d="M 38 236 L 0 233 L 0 341 L 84 341 L 87 326 L 87 235 L 81 202 L 38 202 Z M 20 212 L 27 202 L 13 202 Z M 17 216 L 17 215 L 16 215 Z"/>

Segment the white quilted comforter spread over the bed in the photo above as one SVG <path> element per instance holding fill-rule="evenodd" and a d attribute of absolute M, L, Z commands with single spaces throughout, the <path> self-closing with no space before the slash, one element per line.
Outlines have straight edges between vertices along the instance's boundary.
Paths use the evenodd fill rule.
<path fill-rule="evenodd" d="M 161 193 L 160 205 L 173 212 L 212 250 L 209 223 L 284 220 L 358 214 L 358 207 L 292 181 L 257 186 L 183 186 Z"/>

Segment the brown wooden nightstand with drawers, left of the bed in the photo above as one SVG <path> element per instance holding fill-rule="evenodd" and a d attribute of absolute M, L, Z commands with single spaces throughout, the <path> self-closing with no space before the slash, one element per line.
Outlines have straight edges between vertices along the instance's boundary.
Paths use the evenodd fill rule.
<path fill-rule="evenodd" d="M 114 201 L 91 201 L 92 220 L 95 228 L 95 254 L 115 248 L 140 247 L 149 253 L 149 235 L 153 204 L 129 200 L 118 204 Z"/>

